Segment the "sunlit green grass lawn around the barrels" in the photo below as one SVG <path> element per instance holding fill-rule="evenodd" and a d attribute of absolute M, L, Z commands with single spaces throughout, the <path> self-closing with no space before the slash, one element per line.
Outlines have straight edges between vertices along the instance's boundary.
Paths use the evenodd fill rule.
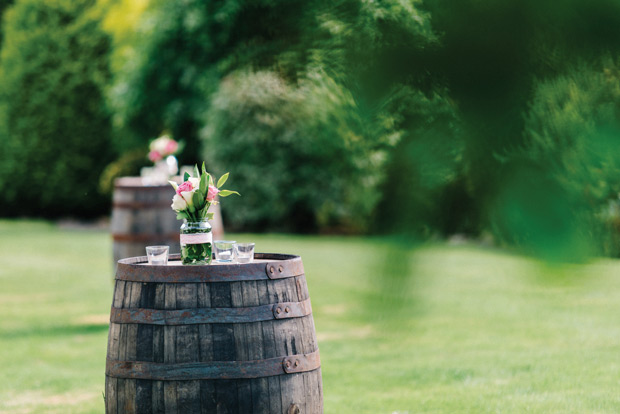
<path fill-rule="evenodd" d="M 326 413 L 620 411 L 618 261 L 235 237 L 302 256 Z M 103 412 L 109 235 L 0 221 L 0 249 L 0 413 Z"/>

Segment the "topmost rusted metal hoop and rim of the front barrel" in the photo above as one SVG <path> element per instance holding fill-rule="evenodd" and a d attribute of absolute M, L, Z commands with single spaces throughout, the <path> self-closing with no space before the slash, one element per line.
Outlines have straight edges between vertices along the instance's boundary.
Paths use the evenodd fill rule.
<path fill-rule="evenodd" d="M 180 260 L 179 254 L 170 255 L 169 260 Z M 203 266 L 144 266 L 146 256 L 130 257 L 118 261 L 116 279 L 143 283 L 203 283 L 237 282 L 246 280 L 283 279 L 301 276 L 304 266 L 301 257 L 289 254 L 256 253 L 261 261 L 235 264 L 210 264 Z M 267 260 L 267 262 L 265 262 Z M 275 277 L 268 276 L 268 269 L 277 269 Z M 267 269 L 267 270 L 266 270 Z"/>

